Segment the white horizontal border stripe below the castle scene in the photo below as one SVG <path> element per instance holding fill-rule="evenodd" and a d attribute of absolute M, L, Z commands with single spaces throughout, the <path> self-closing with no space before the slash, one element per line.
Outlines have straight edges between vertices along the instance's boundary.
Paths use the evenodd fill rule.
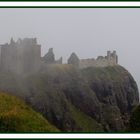
<path fill-rule="evenodd" d="M 82 138 L 82 139 L 139 139 L 140 134 L 0 134 L 0 139 L 2 138 L 14 138 L 14 139 L 26 139 L 26 138 L 35 138 L 35 139 L 73 139 L 73 138 Z"/>

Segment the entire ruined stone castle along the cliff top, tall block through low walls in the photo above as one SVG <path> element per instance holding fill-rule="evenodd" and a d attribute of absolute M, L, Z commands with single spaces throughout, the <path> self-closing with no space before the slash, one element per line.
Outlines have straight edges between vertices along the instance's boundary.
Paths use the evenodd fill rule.
<path fill-rule="evenodd" d="M 50 64 L 62 64 L 62 57 L 55 60 L 53 48 L 41 57 L 41 45 L 36 38 L 18 39 L 16 42 L 11 38 L 10 43 L 0 45 L 0 69 L 3 71 L 29 74 L 38 72 L 41 67 Z M 107 56 L 98 56 L 97 59 L 79 59 L 72 53 L 68 64 L 83 69 L 87 67 L 106 67 L 118 64 L 116 51 L 107 51 Z M 47 68 L 47 67 L 46 67 Z"/>

